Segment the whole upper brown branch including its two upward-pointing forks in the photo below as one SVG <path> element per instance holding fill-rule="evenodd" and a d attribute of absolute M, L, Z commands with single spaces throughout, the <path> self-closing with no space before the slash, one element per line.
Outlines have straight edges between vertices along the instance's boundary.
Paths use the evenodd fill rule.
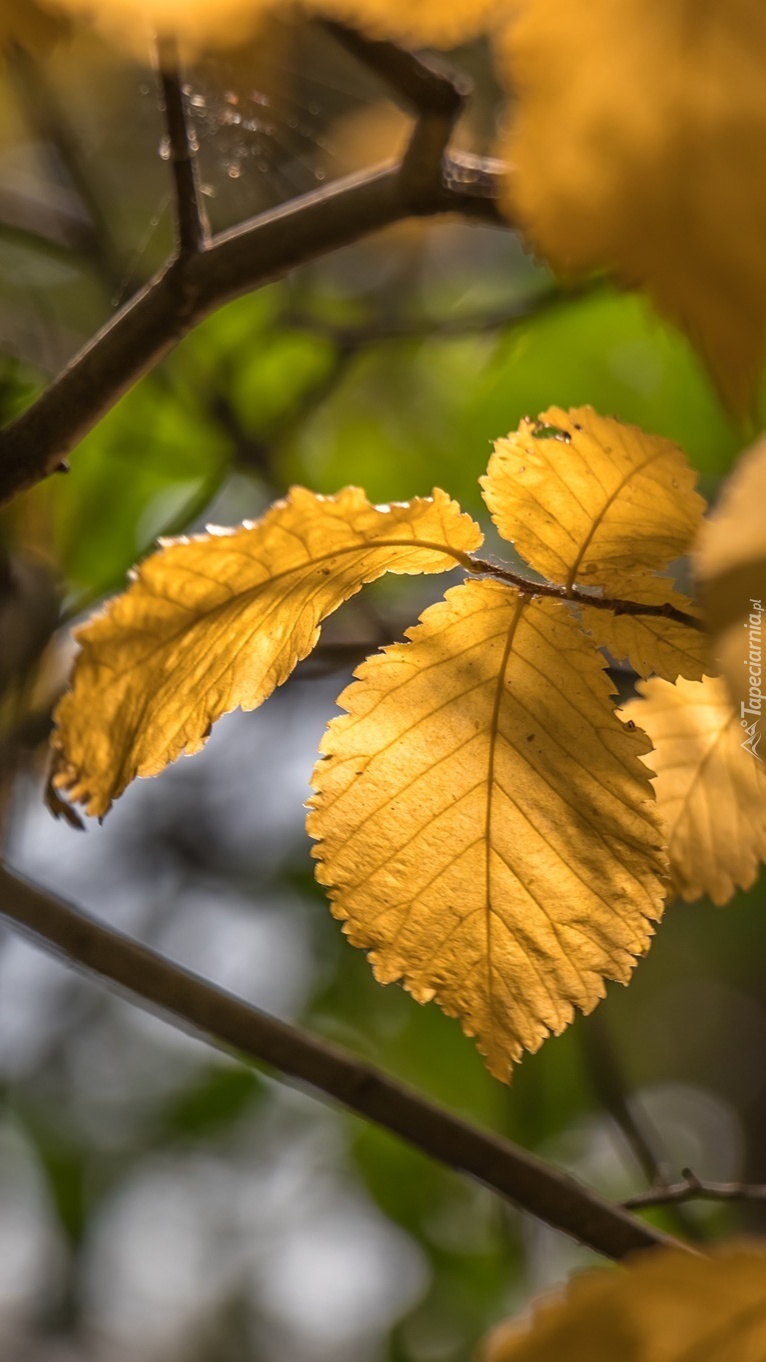
<path fill-rule="evenodd" d="M 65 469 L 70 451 L 101 417 L 203 317 L 232 298 L 405 218 L 455 212 L 508 226 L 496 204 L 502 168 L 446 150 L 466 86 L 391 44 L 341 31 L 361 60 L 382 72 L 386 67 L 386 78 L 414 106 L 414 132 L 402 161 L 338 180 L 206 240 L 183 91 L 166 60 L 162 87 L 180 249 L 38 400 L 0 432 L 0 503 Z"/>

